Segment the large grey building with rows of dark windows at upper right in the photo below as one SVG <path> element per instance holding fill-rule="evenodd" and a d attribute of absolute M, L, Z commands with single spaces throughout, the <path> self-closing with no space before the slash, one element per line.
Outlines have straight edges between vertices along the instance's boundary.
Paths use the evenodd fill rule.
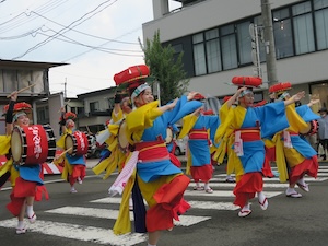
<path fill-rule="evenodd" d="M 153 0 L 154 20 L 143 24 L 143 37 L 160 31 L 163 45 L 184 52 L 190 91 L 222 98 L 235 92 L 226 84 L 235 75 L 268 81 L 261 1 L 176 1 L 181 7 L 169 11 L 168 0 Z M 291 93 L 304 90 L 305 101 L 319 97 L 328 106 L 328 0 L 270 0 L 270 8 L 278 81 L 290 81 Z M 267 96 L 265 83 L 255 101 Z"/>

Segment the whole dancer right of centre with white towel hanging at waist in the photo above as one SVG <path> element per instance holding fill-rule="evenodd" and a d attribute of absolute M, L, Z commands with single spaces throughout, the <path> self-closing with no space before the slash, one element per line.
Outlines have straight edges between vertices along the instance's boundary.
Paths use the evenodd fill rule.
<path fill-rule="evenodd" d="M 232 80 L 238 86 L 237 92 L 220 109 L 221 125 L 215 133 L 215 142 L 221 140 L 232 143 L 229 165 L 234 165 L 236 186 L 234 204 L 241 207 L 238 216 L 251 213 L 249 200 L 257 194 L 262 210 L 268 208 L 268 200 L 262 192 L 262 166 L 265 162 L 265 143 L 262 138 L 272 137 L 289 126 L 285 106 L 304 97 L 304 92 L 292 96 L 289 101 L 253 107 L 253 87 L 261 85 L 260 78 L 236 77 Z M 236 107 L 231 107 L 238 101 Z M 230 139 L 224 137 L 229 136 Z M 226 144 L 220 144 L 220 148 Z"/>

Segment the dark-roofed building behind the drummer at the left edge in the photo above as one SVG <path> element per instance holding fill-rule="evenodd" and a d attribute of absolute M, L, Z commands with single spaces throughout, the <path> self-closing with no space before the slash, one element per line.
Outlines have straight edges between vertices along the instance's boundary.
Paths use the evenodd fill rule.
<path fill-rule="evenodd" d="M 50 124 L 58 122 L 52 109 L 48 105 L 39 108 L 50 96 L 49 92 L 49 69 L 66 63 L 35 62 L 35 61 L 14 61 L 0 59 L 0 107 L 1 109 L 9 103 L 7 98 L 13 91 L 19 93 L 19 102 L 26 102 L 32 105 L 33 114 L 32 124 Z M 59 102 L 52 102 L 51 106 L 56 107 Z M 59 104 L 60 105 L 60 104 Z M 60 109 L 60 107 L 59 107 Z M 40 110 L 40 112 L 37 112 Z M 55 109 L 54 109 L 55 110 Z M 2 115 L 2 110 L 1 110 Z M 52 117 L 52 118 L 51 118 Z M 57 130 L 54 130 L 55 132 Z M 5 134 L 4 117 L 0 117 L 0 134 Z"/>

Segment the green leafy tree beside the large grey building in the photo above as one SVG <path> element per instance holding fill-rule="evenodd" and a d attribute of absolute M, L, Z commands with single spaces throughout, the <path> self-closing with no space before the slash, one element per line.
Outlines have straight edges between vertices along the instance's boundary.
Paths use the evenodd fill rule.
<path fill-rule="evenodd" d="M 141 44 L 140 44 L 141 45 Z M 180 52 L 175 59 L 175 50 L 168 45 L 163 47 L 160 40 L 160 31 L 155 32 L 153 40 L 147 38 L 144 62 L 150 67 L 151 77 L 160 83 L 161 104 L 181 96 L 188 89 L 189 79 L 184 70 L 183 56 Z"/>

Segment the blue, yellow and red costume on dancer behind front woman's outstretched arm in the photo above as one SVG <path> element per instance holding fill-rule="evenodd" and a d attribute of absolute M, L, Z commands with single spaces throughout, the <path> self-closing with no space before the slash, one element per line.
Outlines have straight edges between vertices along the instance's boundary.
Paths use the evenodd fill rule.
<path fill-rule="evenodd" d="M 213 167 L 210 147 L 219 125 L 218 116 L 191 114 L 183 119 L 179 138 L 184 138 L 186 134 L 189 137 L 186 174 L 191 175 L 196 183 L 199 180 L 208 183 L 212 178 Z"/>

